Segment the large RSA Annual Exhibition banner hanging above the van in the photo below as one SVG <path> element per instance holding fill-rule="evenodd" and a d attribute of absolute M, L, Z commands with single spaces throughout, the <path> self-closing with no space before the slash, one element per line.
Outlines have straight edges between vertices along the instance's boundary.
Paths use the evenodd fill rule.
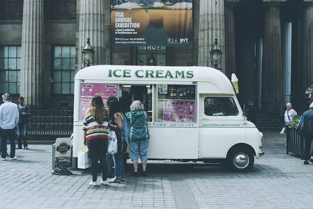
<path fill-rule="evenodd" d="M 193 0 L 111 0 L 111 46 L 192 46 Z"/>

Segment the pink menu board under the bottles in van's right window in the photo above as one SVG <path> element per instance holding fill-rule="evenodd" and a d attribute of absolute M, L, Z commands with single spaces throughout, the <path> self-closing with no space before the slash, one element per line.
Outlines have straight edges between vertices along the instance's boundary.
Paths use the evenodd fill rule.
<path fill-rule="evenodd" d="M 195 99 L 163 99 L 163 121 L 195 122 Z"/>

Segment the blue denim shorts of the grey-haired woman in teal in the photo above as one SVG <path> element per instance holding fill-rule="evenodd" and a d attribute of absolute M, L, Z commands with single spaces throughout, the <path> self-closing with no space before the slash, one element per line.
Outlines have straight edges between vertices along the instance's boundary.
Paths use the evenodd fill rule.
<path fill-rule="evenodd" d="M 148 144 L 149 141 L 129 141 L 129 148 L 131 150 L 132 161 L 138 160 L 139 156 L 142 161 L 148 159 Z"/>

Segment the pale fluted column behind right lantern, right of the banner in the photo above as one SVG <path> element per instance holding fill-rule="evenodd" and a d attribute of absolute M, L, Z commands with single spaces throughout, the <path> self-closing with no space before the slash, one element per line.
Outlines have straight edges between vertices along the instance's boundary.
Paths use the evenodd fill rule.
<path fill-rule="evenodd" d="M 200 0 L 198 65 L 213 67 L 209 52 L 218 39 L 223 51 L 219 68 L 225 73 L 224 13 L 224 0 Z"/>

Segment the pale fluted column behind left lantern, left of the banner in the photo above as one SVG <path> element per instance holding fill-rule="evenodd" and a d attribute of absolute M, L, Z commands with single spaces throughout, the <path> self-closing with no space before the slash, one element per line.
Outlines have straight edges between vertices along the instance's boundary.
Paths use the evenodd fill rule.
<path fill-rule="evenodd" d="M 110 46 L 106 44 L 105 26 L 105 0 L 80 0 L 78 70 L 85 67 L 82 49 L 87 44 L 87 38 L 90 38 L 90 45 L 94 49 L 92 65 L 110 63 L 110 56 L 106 56 L 106 50 L 110 52 Z"/>

